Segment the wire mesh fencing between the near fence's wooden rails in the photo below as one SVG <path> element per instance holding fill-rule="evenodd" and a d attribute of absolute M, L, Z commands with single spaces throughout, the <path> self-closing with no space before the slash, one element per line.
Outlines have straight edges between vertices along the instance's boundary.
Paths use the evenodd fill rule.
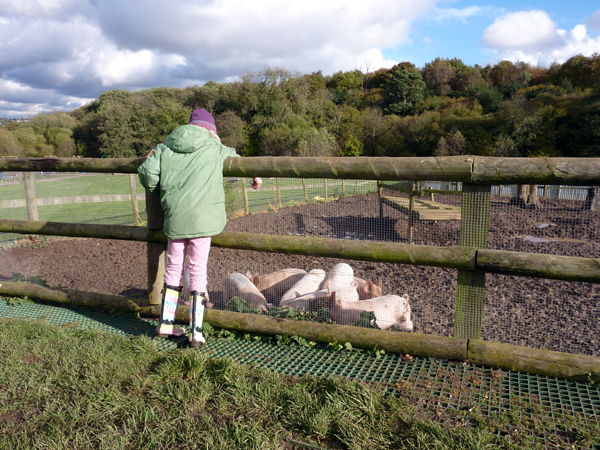
<path fill-rule="evenodd" d="M 6 175 L 0 218 L 34 220 L 22 177 Z M 593 187 L 469 191 L 460 183 L 263 178 L 253 190 L 251 182 L 224 180 L 226 231 L 600 254 Z M 35 199 L 37 220 L 146 222 L 145 192 L 133 175 L 37 173 Z M 22 237 L 3 233 L 0 244 Z M 460 336 L 458 324 L 466 323 L 467 335 L 480 330 L 485 340 L 600 356 L 600 289 L 593 283 L 213 248 L 209 293 L 222 309 L 441 336 Z M 473 320 L 465 322 L 464 316 Z"/>

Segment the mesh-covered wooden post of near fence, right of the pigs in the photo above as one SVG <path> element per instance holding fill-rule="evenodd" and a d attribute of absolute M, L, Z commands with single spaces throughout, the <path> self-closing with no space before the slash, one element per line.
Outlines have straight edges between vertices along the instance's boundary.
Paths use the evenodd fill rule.
<path fill-rule="evenodd" d="M 487 248 L 491 186 L 463 183 L 460 244 Z M 459 270 L 456 287 L 454 337 L 480 339 L 485 306 L 485 273 Z"/>

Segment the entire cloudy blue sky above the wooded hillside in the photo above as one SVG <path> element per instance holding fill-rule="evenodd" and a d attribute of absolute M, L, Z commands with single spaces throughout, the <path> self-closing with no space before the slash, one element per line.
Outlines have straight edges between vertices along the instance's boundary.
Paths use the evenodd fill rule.
<path fill-rule="evenodd" d="M 0 117 L 112 89 L 600 53 L 599 0 L 0 0 Z"/>

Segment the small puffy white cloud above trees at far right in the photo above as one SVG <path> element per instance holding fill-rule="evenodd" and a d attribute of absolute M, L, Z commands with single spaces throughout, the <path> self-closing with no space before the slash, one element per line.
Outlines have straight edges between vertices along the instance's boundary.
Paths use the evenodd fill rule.
<path fill-rule="evenodd" d="M 493 61 L 523 61 L 548 66 L 570 57 L 600 52 L 600 37 L 590 36 L 584 25 L 570 31 L 558 29 L 544 11 L 521 11 L 497 18 L 481 39 L 491 49 Z"/>

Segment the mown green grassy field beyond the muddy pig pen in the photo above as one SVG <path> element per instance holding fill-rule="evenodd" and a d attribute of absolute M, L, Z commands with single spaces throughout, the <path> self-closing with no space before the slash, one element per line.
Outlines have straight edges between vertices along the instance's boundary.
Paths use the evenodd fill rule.
<path fill-rule="evenodd" d="M 36 196 L 38 199 L 62 198 L 74 196 L 129 195 L 131 188 L 129 176 L 111 174 L 61 174 L 36 178 Z M 136 193 L 144 193 L 137 176 Z M 229 178 L 225 181 L 226 209 L 229 217 L 244 214 L 244 196 L 242 179 Z M 373 181 L 322 180 L 307 179 L 306 192 L 300 179 L 275 178 L 263 179 L 259 190 L 250 188 L 251 179 L 246 183 L 248 211 L 257 213 L 269 209 L 298 205 L 301 203 L 322 203 L 344 195 L 357 195 L 375 192 L 377 185 Z M 279 186 L 278 186 L 279 185 Z M 129 197 L 130 198 L 130 197 Z M 0 199 L 24 200 L 23 183 L 0 184 Z M 138 200 L 140 220 L 146 221 L 146 202 Z M 97 223 L 108 225 L 133 225 L 134 215 L 131 200 L 101 203 L 67 203 L 63 205 L 38 206 L 39 220 L 50 222 Z M 27 220 L 27 209 L 22 207 L 1 207 L 0 219 Z M 7 242 L 19 236 L 0 233 L 0 242 Z"/>

